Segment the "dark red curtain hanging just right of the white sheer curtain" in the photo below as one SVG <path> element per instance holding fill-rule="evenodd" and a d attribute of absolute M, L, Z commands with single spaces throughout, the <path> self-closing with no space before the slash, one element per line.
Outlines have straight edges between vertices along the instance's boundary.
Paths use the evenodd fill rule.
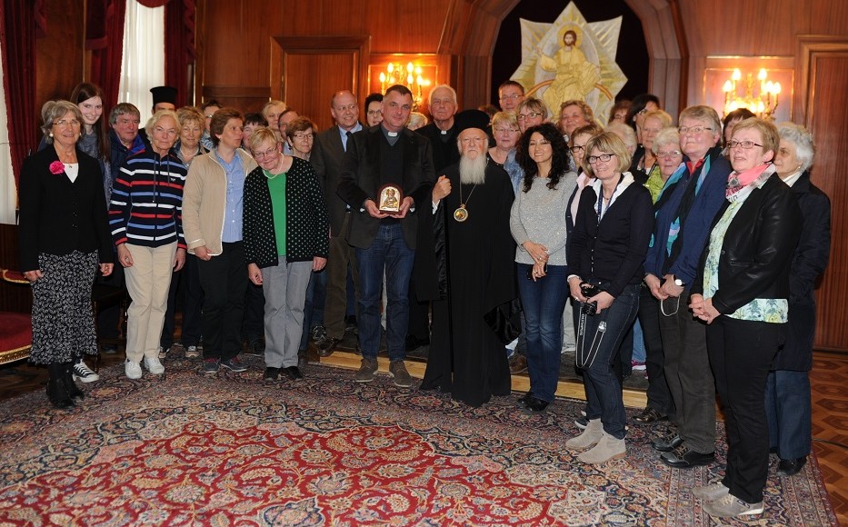
<path fill-rule="evenodd" d="M 165 84 L 176 88 L 177 108 L 193 100 L 189 67 L 194 63 L 195 0 L 171 0 L 165 5 Z"/>

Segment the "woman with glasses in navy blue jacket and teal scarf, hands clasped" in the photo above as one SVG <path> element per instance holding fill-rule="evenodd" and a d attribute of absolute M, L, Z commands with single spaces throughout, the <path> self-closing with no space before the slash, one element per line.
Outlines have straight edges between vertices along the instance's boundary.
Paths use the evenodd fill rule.
<path fill-rule="evenodd" d="M 715 460 L 715 384 L 705 324 L 686 301 L 732 168 L 716 145 L 721 121 L 711 106 L 689 106 L 678 121 L 683 163 L 654 204 L 644 282 L 659 301 L 663 372 L 675 408 L 673 426 L 651 446 L 663 463 L 692 468 Z"/>

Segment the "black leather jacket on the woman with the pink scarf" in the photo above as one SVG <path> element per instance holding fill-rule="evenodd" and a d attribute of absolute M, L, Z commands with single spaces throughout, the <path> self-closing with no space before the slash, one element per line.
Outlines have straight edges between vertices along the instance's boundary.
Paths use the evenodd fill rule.
<path fill-rule="evenodd" d="M 715 215 L 713 228 L 729 205 L 725 202 Z M 724 234 L 718 265 L 719 290 L 713 295 L 713 307 L 727 314 L 756 298 L 788 299 L 789 271 L 801 226 L 801 209 L 792 189 L 772 174 L 745 199 Z M 703 267 L 708 252 L 709 238 L 693 294 L 703 294 Z"/>

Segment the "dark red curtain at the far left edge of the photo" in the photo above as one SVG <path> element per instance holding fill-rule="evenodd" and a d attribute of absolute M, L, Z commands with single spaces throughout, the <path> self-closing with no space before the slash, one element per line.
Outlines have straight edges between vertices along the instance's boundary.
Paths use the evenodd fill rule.
<path fill-rule="evenodd" d="M 15 185 L 20 166 L 37 135 L 35 108 L 35 10 L 33 0 L 11 0 L 0 6 L 0 46 L 3 48 L 3 90 Z"/>

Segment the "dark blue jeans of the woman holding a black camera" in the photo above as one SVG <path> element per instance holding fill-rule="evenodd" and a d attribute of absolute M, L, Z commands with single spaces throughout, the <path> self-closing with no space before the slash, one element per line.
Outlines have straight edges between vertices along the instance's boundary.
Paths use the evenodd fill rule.
<path fill-rule="evenodd" d="M 584 303 L 575 303 L 574 311 L 583 309 Z M 639 285 L 628 285 L 624 291 L 615 297 L 613 304 L 594 316 L 585 317 L 585 328 L 577 326 L 577 356 L 578 362 L 582 354 L 594 344 L 597 354 L 591 363 L 586 363 L 583 370 L 584 388 L 586 390 L 586 418 L 601 419 L 604 432 L 616 439 L 624 439 L 624 402 L 622 401 L 622 386 L 613 370 L 613 361 L 621 345 L 624 334 L 630 331 L 631 325 L 639 311 Z M 579 315 L 583 320 L 582 314 Z M 599 332 L 601 323 L 606 323 L 604 332 Z M 581 339 L 581 333 L 584 338 Z"/>

